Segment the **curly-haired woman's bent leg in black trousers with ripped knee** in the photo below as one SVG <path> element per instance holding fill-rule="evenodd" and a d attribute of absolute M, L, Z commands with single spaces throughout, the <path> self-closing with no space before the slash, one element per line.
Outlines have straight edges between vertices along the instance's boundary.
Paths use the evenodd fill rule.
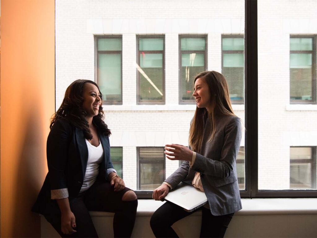
<path fill-rule="evenodd" d="M 115 213 L 114 237 L 131 237 L 138 207 L 137 197 L 131 189 L 125 188 L 120 192 L 114 192 L 110 182 L 96 181 L 87 190 L 85 203 L 91 211 Z"/>

